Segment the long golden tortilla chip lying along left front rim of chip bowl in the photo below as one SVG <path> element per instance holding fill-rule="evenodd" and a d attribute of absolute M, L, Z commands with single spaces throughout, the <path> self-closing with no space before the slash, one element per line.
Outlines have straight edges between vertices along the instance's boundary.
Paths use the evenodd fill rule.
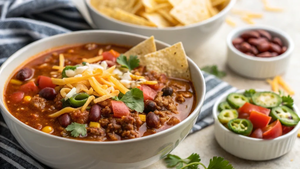
<path fill-rule="evenodd" d="M 116 20 L 121 20 L 123 22 L 133 23 L 137 25 L 144 25 L 144 26 L 155 26 L 153 23 L 149 22 L 145 18 L 123 11 L 122 9 L 119 8 L 111 9 L 107 7 L 100 7 L 98 8 L 98 11 L 104 15 L 115 18 Z"/>

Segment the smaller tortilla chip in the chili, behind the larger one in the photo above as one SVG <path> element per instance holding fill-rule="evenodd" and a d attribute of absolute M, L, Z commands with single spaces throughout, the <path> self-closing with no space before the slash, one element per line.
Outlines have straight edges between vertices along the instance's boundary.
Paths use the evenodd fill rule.
<path fill-rule="evenodd" d="M 140 42 L 139 44 L 132 47 L 129 51 L 125 52 L 124 55 L 129 57 L 130 55 L 137 55 L 140 59 L 140 64 L 144 63 L 143 56 L 156 51 L 154 36 Z"/>

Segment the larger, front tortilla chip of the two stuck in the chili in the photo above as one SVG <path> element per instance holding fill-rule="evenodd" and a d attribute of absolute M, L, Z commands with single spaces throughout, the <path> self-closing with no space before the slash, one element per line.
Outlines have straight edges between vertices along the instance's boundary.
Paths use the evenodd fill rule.
<path fill-rule="evenodd" d="M 164 73 L 169 77 L 190 80 L 190 70 L 182 42 L 143 57 L 147 71 Z"/>

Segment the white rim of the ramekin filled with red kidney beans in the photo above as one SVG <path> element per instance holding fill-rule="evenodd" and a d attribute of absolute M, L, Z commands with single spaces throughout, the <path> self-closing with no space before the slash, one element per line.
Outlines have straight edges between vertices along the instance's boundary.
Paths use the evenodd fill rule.
<path fill-rule="evenodd" d="M 250 55 L 242 53 L 241 51 L 239 51 L 232 45 L 233 37 L 235 37 L 236 35 L 240 35 L 244 31 L 256 30 L 256 29 L 263 29 L 268 32 L 272 32 L 276 35 L 282 36 L 288 43 L 286 45 L 287 50 L 283 54 L 280 54 L 276 57 L 254 57 L 254 56 L 250 56 Z M 289 36 L 289 34 L 287 34 L 286 32 L 284 32 L 281 29 L 275 28 L 273 26 L 267 26 L 267 25 L 242 26 L 242 27 L 235 28 L 231 32 L 229 32 L 229 34 L 227 35 L 226 43 L 227 43 L 228 48 L 232 52 L 237 54 L 238 56 L 243 57 L 248 60 L 262 61 L 262 62 L 272 62 L 272 61 L 281 60 L 283 58 L 286 58 L 292 53 L 292 51 L 294 50 L 294 47 L 295 47 L 294 42 L 293 42 L 292 38 Z"/>

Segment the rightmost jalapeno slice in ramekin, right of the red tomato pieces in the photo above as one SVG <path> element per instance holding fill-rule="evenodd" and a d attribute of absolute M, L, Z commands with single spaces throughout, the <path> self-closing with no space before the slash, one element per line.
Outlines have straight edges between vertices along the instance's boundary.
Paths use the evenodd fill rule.
<path fill-rule="evenodd" d="M 295 126 L 299 121 L 299 116 L 290 108 L 286 106 L 274 107 L 271 110 L 270 116 L 285 126 Z"/>

